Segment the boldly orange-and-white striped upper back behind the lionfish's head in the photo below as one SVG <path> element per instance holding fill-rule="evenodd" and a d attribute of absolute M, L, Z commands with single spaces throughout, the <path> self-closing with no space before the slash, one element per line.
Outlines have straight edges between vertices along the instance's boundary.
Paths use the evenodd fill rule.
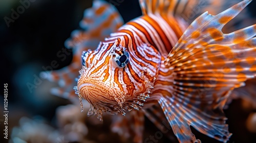
<path fill-rule="evenodd" d="M 148 14 L 126 23 L 119 29 L 119 32 L 123 32 L 123 34 L 119 35 L 129 34 L 131 40 L 138 36 L 140 42 L 150 44 L 161 55 L 167 56 L 185 31 L 185 28 L 181 28 L 180 25 L 184 25 L 184 23 L 174 17 L 159 17 L 154 14 Z M 114 36 L 114 34 L 112 35 Z M 129 45 L 126 44 L 125 46 Z M 134 44 L 129 51 L 136 51 L 137 46 Z"/>

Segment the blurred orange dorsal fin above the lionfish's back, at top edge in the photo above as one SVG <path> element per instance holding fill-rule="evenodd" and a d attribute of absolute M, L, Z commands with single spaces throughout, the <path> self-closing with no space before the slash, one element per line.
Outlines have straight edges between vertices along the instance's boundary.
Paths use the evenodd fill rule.
<path fill-rule="evenodd" d="M 223 7 L 231 2 L 221 0 L 139 0 L 142 13 L 160 14 L 161 16 L 181 16 L 191 22 L 195 17 L 210 10 L 212 14 L 223 11 Z M 236 2 L 238 2 L 236 0 Z M 232 2 L 232 4 L 236 4 Z"/>

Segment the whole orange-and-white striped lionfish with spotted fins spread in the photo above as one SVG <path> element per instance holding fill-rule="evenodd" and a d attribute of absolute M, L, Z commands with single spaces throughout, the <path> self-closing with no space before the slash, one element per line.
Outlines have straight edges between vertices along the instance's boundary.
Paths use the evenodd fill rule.
<path fill-rule="evenodd" d="M 140 0 L 142 16 L 122 25 L 113 6 L 94 1 L 80 23 L 86 32 L 74 31 L 66 41 L 76 50 L 72 65 L 49 77 L 65 79 L 67 88 L 53 92 L 73 94 L 76 75 L 69 71 L 81 68 L 74 87 L 81 110 L 84 98 L 91 105 L 88 114 L 99 120 L 105 112 L 126 114 L 117 116 L 113 131 L 124 135 L 131 130 L 122 126 L 133 128 L 134 142 L 142 142 L 144 115 L 159 129 L 166 120 L 180 142 L 201 142 L 190 126 L 228 141 L 223 107 L 232 90 L 256 75 L 256 25 L 221 30 L 251 0 L 215 16 L 204 12 L 188 26 L 179 14 L 189 2 Z M 134 124 L 124 127 L 129 120 Z"/>

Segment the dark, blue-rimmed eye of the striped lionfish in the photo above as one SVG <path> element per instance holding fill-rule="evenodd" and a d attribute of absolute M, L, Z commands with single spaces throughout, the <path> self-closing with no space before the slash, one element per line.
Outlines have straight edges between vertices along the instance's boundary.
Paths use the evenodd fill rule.
<path fill-rule="evenodd" d="M 130 55 L 124 47 L 120 50 L 116 49 L 113 57 L 119 67 L 124 67 L 130 60 Z"/>

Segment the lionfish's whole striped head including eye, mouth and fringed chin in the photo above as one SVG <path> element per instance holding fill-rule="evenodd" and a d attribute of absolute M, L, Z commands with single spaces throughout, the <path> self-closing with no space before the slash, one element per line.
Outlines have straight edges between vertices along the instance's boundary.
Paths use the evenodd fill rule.
<path fill-rule="evenodd" d="M 142 61 L 136 54 L 137 51 L 129 52 L 118 40 L 100 42 L 95 51 L 82 53 L 83 66 L 74 89 L 80 102 L 83 97 L 90 103 L 88 115 L 96 114 L 102 120 L 103 112 L 124 115 L 126 110 L 139 110 L 143 106 L 150 97 L 159 64 Z"/>

